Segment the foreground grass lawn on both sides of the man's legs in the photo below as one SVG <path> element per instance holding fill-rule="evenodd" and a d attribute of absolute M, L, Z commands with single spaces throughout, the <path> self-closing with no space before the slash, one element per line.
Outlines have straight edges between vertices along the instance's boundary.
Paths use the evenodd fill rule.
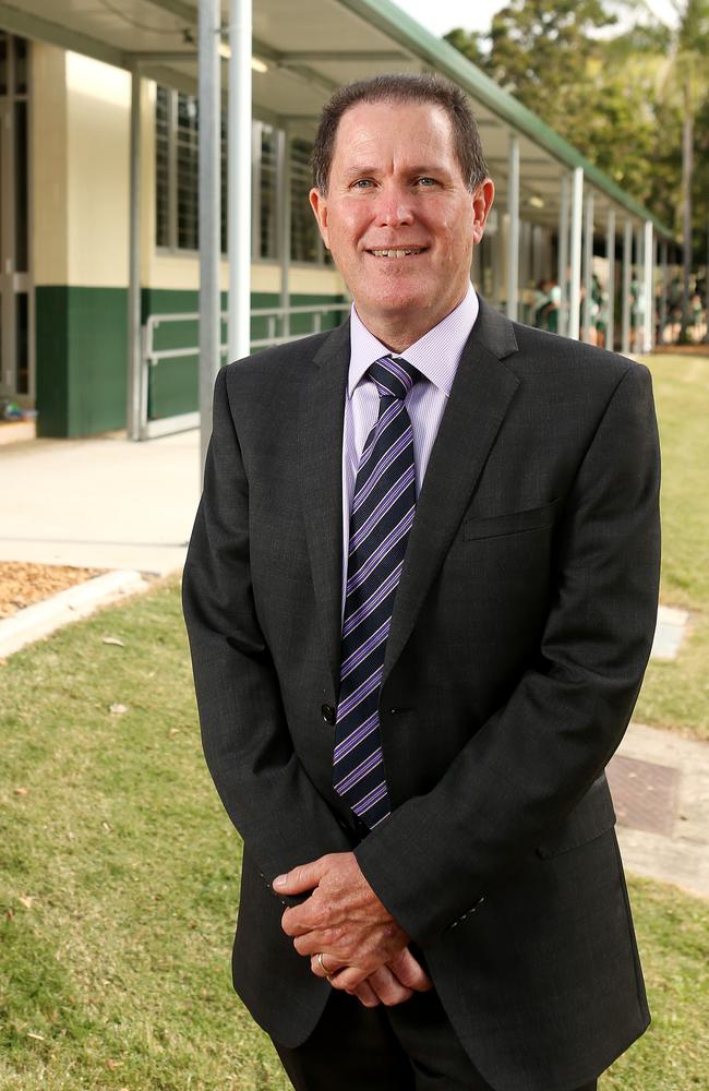
<path fill-rule="evenodd" d="M 0 686 L 0 1088 L 286 1089 L 231 991 L 239 843 L 201 756 L 177 588 L 11 657 Z M 706 1088 L 707 906 L 632 894 L 656 1019 L 602 1091 Z"/>

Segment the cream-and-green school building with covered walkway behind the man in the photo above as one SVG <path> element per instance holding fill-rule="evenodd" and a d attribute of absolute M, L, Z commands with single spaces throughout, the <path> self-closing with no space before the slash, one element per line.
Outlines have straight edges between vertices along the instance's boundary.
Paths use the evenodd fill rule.
<path fill-rule="evenodd" d="M 125 428 L 147 439 L 199 420 L 199 140 L 208 116 L 197 80 L 207 2 L 0 0 L 0 397 L 36 408 L 40 436 Z M 440 72 L 469 96 L 497 189 L 474 257 L 478 289 L 531 321 L 532 286 L 554 280 L 560 333 L 584 337 L 602 260 L 606 344 L 652 348 L 656 295 L 662 327 L 677 254 L 670 232 L 453 47 L 388 0 L 214 3 L 223 362 L 230 284 L 249 309 L 252 350 L 347 313 L 308 205 L 309 156 L 332 91 L 381 72 Z M 245 63 L 243 51 L 235 59 L 244 10 Z M 245 122 L 228 110 L 235 73 L 242 87 L 251 81 Z M 232 155 L 229 173 L 239 125 L 247 152 Z M 231 277 L 230 187 L 250 196 L 250 261 L 245 273 L 232 261 Z M 636 301 L 638 286 L 647 301 L 640 314 L 633 286 Z"/>

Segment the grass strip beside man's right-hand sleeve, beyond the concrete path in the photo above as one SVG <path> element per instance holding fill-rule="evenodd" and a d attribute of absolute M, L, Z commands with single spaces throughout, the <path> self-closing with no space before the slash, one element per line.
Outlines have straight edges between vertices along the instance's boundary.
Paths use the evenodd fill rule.
<path fill-rule="evenodd" d="M 652 660 L 635 719 L 709 739 L 709 357 L 649 357 L 662 442 L 661 601 L 692 611 L 676 660 Z"/>

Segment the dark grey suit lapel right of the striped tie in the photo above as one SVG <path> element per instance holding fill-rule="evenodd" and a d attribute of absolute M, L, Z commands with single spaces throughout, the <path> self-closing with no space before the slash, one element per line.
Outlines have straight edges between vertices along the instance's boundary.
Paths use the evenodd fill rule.
<path fill-rule="evenodd" d="M 394 603 L 384 681 L 411 634 L 519 384 L 502 363 L 516 350 L 512 323 L 481 299 L 417 504 Z"/>

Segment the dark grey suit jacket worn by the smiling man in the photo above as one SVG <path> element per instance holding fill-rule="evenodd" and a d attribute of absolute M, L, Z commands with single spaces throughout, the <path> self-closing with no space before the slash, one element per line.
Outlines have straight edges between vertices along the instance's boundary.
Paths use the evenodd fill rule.
<path fill-rule="evenodd" d="M 659 456 L 647 369 L 484 301 L 419 499 L 386 649 L 394 812 L 332 789 L 349 327 L 217 380 L 184 571 L 206 759 L 244 841 L 235 984 L 286 1045 L 329 986 L 271 880 L 354 849 L 500 1091 L 567 1091 L 649 1021 L 603 769 L 649 655 Z M 326 710 L 325 710 L 326 711 Z"/>

